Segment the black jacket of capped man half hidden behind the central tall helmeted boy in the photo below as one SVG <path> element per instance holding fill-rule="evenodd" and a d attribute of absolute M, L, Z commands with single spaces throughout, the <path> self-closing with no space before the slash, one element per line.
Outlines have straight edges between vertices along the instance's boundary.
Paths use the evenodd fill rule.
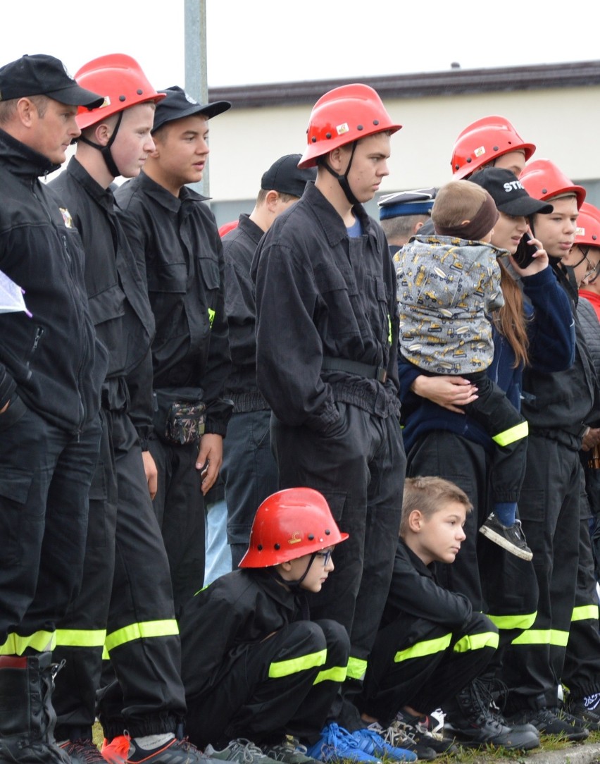
<path fill-rule="evenodd" d="M 240 215 L 237 228 L 223 237 L 225 258 L 225 312 L 229 324 L 231 374 L 227 397 L 234 411 L 260 411 L 269 408 L 256 385 L 256 302 L 250 267 L 263 229 Z"/>

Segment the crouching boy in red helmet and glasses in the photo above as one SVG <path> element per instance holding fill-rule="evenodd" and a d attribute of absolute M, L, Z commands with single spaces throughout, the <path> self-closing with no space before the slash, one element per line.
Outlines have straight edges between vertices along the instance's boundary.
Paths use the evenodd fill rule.
<path fill-rule="evenodd" d="M 281 490 L 256 511 L 242 569 L 185 606 L 179 627 L 186 733 L 211 758 L 416 759 L 373 734 L 324 727 L 346 677 L 350 639 L 334 620 L 310 620 L 304 592 L 321 591 L 334 570 L 334 547 L 347 538 L 318 491 Z"/>

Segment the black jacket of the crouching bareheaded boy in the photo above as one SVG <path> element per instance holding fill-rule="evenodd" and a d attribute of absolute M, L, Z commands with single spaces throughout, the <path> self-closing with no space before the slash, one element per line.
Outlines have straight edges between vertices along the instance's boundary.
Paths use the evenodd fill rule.
<path fill-rule="evenodd" d="M 433 564 L 431 567 L 425 565 L 402 539 L 398 539 L 382 626 L 401 616 L 423 618 L 450 630 L 466 626 L 473 613 L 471 603 L 463 594 L 437 584 L 433 568 Z"/>

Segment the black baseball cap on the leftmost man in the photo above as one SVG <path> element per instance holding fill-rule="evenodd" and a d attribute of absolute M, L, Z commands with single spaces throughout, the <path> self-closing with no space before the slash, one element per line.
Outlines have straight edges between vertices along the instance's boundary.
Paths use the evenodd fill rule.
<path fill-rule="evenodd" d="M 0 67 L 0 101 L 47 95 L 69 106 L 96 108 L 104 95 L 79 87 L 60 59 L 45 53 L 27 54 Z"/>

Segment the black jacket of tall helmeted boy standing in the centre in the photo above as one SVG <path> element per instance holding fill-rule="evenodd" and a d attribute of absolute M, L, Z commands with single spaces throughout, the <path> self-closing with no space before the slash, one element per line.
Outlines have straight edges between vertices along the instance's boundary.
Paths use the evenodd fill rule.
<path fill-rule="evenodd" d="M 362 206 L 353 212 L 360 239 L 307 183 L 256 250 L 256 379 L 287 425 L 324 432 L 339 419 L 336 401 L 399 413 L 395 269 L 382 228 Z M 382 367 L 387 381 L 322 371 L 324 357 Z"/>

